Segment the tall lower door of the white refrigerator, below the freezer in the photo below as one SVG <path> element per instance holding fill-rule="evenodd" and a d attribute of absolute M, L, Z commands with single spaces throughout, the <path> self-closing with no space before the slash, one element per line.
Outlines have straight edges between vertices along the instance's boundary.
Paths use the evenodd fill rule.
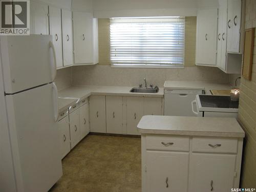
<path fill-rule="evenodd" d="M 18 191 L 48 191 L 62 175 L 52 83 L 7 95 Z"/>

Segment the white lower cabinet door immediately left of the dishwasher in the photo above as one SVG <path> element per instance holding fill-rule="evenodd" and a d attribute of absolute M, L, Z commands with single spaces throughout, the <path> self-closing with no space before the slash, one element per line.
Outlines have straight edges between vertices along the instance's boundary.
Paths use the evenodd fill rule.
<path fill-rule="evenodd" d="M 162 98 L 145 97 L 144 115 L 162 115 Z"/>

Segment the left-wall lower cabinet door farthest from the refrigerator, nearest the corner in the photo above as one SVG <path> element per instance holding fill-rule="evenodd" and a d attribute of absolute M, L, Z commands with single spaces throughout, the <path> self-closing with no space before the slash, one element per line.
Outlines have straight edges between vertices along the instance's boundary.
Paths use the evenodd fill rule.
<path fill-rule="evenodd" d="M 85 136 L 87 136 L 90 132 L 88 103 L 80 106 L 79 115 L 80 115 L 80 130 L 81 130 L 81 139 L 82 139 Z"/>

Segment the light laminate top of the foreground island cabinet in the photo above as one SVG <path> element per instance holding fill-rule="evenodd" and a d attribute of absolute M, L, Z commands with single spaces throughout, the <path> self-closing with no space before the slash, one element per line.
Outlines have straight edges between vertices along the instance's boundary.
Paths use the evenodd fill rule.
<path fill-rule="evenodd" d="M 235 138 L 245 136 L 236 118 L 146 115 L 141 118 L 137 127 L 141 134 Z"/>

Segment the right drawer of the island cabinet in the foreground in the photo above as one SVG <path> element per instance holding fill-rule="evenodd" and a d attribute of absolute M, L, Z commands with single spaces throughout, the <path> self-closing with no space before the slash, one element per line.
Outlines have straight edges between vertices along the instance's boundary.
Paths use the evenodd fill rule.
<path fill-rule="evenodd" d="M 193 137 L 193 152 L 237 153 L 238 140 L 231 138 L 201 138 Z"/>

